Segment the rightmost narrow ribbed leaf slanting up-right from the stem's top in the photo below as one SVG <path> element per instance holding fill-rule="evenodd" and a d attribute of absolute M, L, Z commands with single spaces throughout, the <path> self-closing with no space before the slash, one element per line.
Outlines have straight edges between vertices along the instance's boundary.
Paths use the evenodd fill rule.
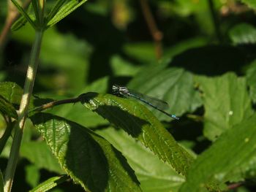
<path fill-rule="evenodd" d="M 86 2 L 86 0 L 82 0 L 80 2 L 77 0 L 68 1 L 67 4 L 64 4 L 64 6 L 62 6 L 59 9 L 59 12 L 57 12 L 54 15 L 54 17 L 48 21 L 47 26 L 50 27 L 50 26 L 55 25 L 56 23 L 58 23 L 60 20 L 65 18 L 67 15 L 69 15 L 71 12 L 73 12 L 75 9 L 80 7 L 85 2 Z"/>

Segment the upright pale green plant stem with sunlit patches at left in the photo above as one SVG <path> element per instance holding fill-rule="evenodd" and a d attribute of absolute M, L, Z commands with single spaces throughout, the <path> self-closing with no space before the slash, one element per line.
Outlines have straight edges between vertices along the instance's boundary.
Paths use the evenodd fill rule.
<path fill-rule="evenodd" d="M 39 60 L 40 47 L 42 42 L 43 31 L 36 31 L 34 45 L 31 50 L 31 58 L 27 69 L 23 96 L 20 101 L 20 110 L 18 112 L 18 123 L 15 126 L 15 134 L 13 137 L 10 157 L 7 164 L 7 170 L 4 177 L 4 191 L 10 192 L 12 188 L 13 177 L 18 162 L 18 153 L 23 135 L 23 127 L 26 120 L 26 114 L 29 108 L 29 101 L 34 87 L 34 79 L 37 73 L 37 64 Z"/>

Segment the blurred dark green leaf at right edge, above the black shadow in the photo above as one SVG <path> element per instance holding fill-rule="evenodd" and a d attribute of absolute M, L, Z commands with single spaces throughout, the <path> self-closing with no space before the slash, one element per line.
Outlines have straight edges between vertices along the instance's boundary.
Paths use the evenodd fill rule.
<path fill-rule="evenodd" d="M 229 36 L 235 45 L 255 44 L 256 28 L 247 23 L 240 23 L 230 29 Z"/>

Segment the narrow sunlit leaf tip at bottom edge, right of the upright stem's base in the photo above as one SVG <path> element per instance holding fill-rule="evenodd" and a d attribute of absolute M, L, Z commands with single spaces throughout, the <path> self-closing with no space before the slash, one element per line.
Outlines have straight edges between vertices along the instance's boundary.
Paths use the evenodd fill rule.
<path fill-rule="evenodd" d="M 64 181 L 66 180 L 69 180 L 69 177 L 67 175 L 51 177 L 50 179 L 38 185 L 36 188 L 33 188 L 30 192 L 49 191 L 50 189 L 56 187 L 57 185 L 64 183 Z"/>

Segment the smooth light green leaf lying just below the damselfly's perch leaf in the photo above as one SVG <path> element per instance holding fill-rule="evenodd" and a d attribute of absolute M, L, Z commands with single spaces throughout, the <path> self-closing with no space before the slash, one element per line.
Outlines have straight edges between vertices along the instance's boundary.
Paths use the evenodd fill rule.
<path fill-rule="evenodd" d="M 185 179 L 169 165 L 137 142 L 122 129 L 104 128 L 96 131 L 114 145 L 127 161 L 140 181 L 142 191 L 178 191 Z"/>

